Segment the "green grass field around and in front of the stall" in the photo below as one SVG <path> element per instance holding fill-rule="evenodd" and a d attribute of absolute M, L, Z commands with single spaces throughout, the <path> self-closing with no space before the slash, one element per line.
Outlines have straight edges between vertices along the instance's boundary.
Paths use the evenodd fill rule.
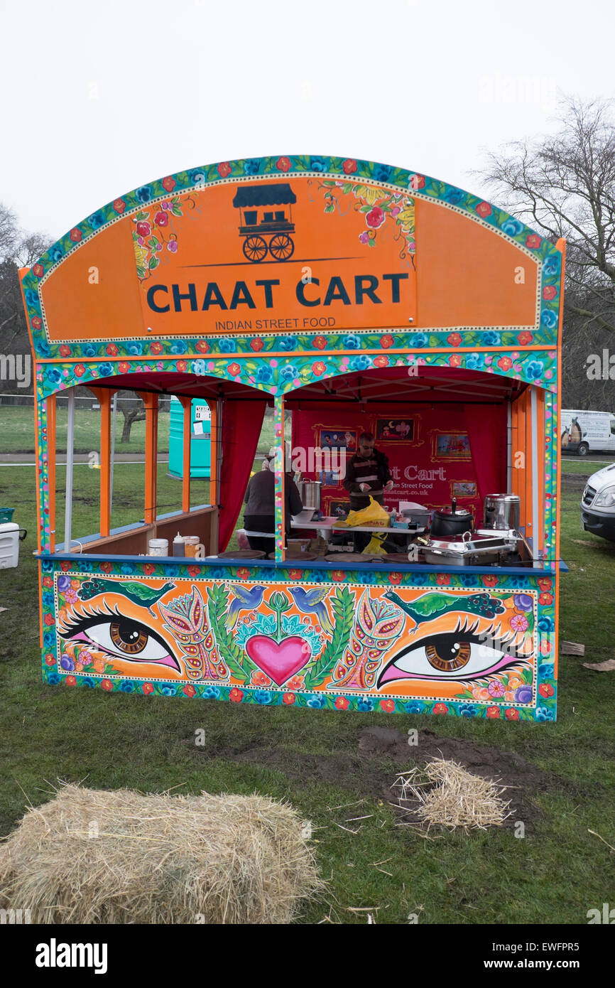
<path fill-rule="evenodd" d="M 587 473 L 597 468 L 586 467 Z M 142 466 L 116 468 L 114 524 L 138 516 L 137 469 Z M 557 723 L 509 724 L 44 687 L 32 556 L 34 469 L 0 468 L 0 504 L 17 506 L 16 520 L 30 532 L 19 568 L 0 572 L 0 604 L 8 609 L 0 614 L 0 833 L 14 827 L 27 800 L 47 799 L 49 782 L 58 778 L 141 791 L 258 791 L 289 799 L 312 821 L 329 889 L 299 923 L 325 917 L 365 923 L 365 913 L 348 911 L 361 908 L 384 924 L 408 922 L 410 913 L 427 924 L 586 923 L 588 909 L 613 899 L 613 853 L 589 831 L 615 846 L 615 678 L 581 662 L 613 657 L 615 544 L 581 532 L 583 478 L 566 469 L 562 555 L 570 572 L 562 579 L 560 631 L 562 639 L 585 644 L 585 660 L 561 658 Z M 98 475 L 80 470 L 75 533 L 98 528 Z M 204 487 L 195 501 L 206 500 Z M 179 489 L 161 477 L 160 502 L 171 505 Z M 387 786 L 408 764 L 386 752 L 359 752 L 362 732 L 373 726 L 402 735 L 428 728 L 442 739 L 489 746 L 502 758 L 520 756 L 527 763 L 521 790 L 510 794 L 523 796 L 515 819 L 524 822 L 525 837 L 515 839 L 511 828 L 470 834 L 436 828 L 425 838 L 398 826 Z M 199 728 L 203 747 L 194 744 Z"/>

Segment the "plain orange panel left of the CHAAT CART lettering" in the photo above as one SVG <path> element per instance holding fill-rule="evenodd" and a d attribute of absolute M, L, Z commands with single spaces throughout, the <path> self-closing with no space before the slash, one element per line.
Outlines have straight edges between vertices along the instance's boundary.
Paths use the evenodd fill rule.
<path fill-rule="evenodd" d="M 70 254 L 41 286 L 50 341 L 143 335 L 132 225 L 126 217 L 102 230 Z"/>

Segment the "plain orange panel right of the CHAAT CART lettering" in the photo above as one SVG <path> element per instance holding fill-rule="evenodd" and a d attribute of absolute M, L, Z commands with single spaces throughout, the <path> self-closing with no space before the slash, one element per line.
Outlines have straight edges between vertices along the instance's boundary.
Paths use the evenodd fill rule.
<path fill-rule="evenodd" d="M 535 325 L 529 254 L 446 206 L 417 200 L 416 214 L 418 327 Z"/>

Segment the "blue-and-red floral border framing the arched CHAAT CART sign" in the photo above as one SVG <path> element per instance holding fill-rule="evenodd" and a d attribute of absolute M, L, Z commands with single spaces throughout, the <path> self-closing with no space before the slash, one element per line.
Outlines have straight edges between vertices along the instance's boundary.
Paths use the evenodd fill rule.
<path fill-rule="evenodd" d="M 221 182 L 231 182 L 242 178 L 250 177 L 254 179 L 258 176 L 289 174 L 309 175 L 321 180 L 362 180 L 388 187 L 394 192 L 399 190 L 405 192 L 410 191 L 415 199 L 441 203 L 455 211 L 471 216 L 476 221 L 490 227 L 494 232 L 524 249 L 530 256 L 541 262 L 540 329 L 532 329 L 531 332 L 536 337 L 538 344 L 544 344 L 545 346 L 556 344 L 562 257 L 553 244 L 528 226 L 525 226 L 520 220 L 510 216 L 498 206 L 494 206 L 480 197 L 473 196 L 471 193 L 458 189 L 456 186 L 448 185 L 445 182 L 440 182 L 437 179 L 406 169 L 395 168 L 376 162 L 360 161 L 354 158 L 326 157 L 320 155 L 281 155 L 277 158 L 249 158 L 218 162 L 205 165 L 202 168 L 193 168 L 189 171 L 166 176 L 163 179 L 140 186 L 125 196 L 115 199 L 113 203 L 109 203 L 107 206 L 102 206 L 65 233 L 64 236 L 60 237 L 38 259 L 38 262 L 33 265 L 24 279 L 27 318 L 38 360 L 58 359 L 62 357 L 79 360 L 85 357 L 103 357 L 105 355 L 106 344 L 104 343 L 49 344 L 44 333 L 38 290 L 40 283 L 71 251 L 78 249 L 80 244 L 87 241 L 90 237 L 95 236 L 100 230 L 117 221 L 122 216 L 136 214 L 142 211 L 144 206 L 154 205 L 156 202 L 172 202 L 180 193 L 199 190 Z M 508 334 L 508 338 L 505 339 L 503 345 L 514 346 L 515 341 L 513 336 L 519 330 L 521 332 L 529 331 L 527 327 L 517 327 L 517 330 L 514 327 L 507 327 L 499 330 L 501 333 Z M 432 344 L 433 346 L 475 347 L 480 345 L 479 340 L 486 333 L 493 332 L 493 329 L 492 327 L 485 327 L 485 330 L 482 331 L 477 330 L 476 327 L 469 329 L 462 327 L 454 331 L 462 336 L 462 342 L 459 344 L 447 342 L 447 337 L 451 335 L 450 330 L 434 329 L 427 332 L 437 337 L 438 342 Z M 298 335 L 296 337 L 296 346 L 293 349 L 312 352 L 317 349 L 325 349 L 326 347 L 335 351 L 343 347 L 343 338 L 345 335 L 327 334 L 327 337 L 321 334 Z M 374 343 L 374 339 L 380 337 L 382 334 L 359 331 L 354 335 L 356 335 L 359 341 L 356 349 L 373 349 L 374 346 L 377 346 Z M 402 348 L 415 346 L 412 342 L 415 336 L 414 333 L 393 332 L 390 335 L 394 340 L 391 346 L 400 346 Z M 323 339 L 326 340 L 325 347 L 322 345 Z M 160 341 L 162 346 L 160 354 L 166 356 L 179 353 L 185 356 L 194 356 L 203 352 L 211 354 L 242 354 L 254 351 L 255 344 L 259 349 L 272 350 L 279 346 L 279 341 L 280 338 L 276 335 L 222 338 L 212 336 L 204 337 L 200 340 L 192 338 L 186 340 L 165 339 L 164 341 Z M 182 351 L 178 349 L 179 345 L 183 346 L 184 349 Z M 489 346 L 490 344 L 483 342 L 482 345 Z M 147 341 L 118 341 L 114 346 L 116 347 L 117 355 L 132 359 L 135 356 L 141 356 L 143 350 L 139 351 L 138 349 L 135 350 L 135 348 L 139 346 L 146 348 Z"/>

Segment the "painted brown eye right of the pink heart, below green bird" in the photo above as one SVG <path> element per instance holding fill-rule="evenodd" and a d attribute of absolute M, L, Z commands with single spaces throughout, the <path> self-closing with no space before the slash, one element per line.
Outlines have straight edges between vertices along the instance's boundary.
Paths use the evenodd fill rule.
<path fill-rule="evenodd" d="M 514 635 L 512 635 L 514 638 Z M 525 656 L 506 647 L 505 640 L 485 644 L 486 636 L 464 630 L 437 634 L 411 645 L 383 669 L 378 686 L 402 679 L 472 680 L 488 676 L 508 666 L 518 665 Z"/>

